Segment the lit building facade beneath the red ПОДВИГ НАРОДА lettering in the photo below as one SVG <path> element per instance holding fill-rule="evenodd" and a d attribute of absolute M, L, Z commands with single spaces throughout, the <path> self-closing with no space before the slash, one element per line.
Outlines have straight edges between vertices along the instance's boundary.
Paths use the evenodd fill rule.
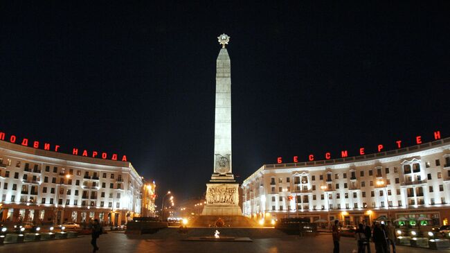
<path fill-rule="evenodd" d="M 141 212 L 130 162 L 79 157 L 0 141 L 0 218 L 121 225 Z"/>

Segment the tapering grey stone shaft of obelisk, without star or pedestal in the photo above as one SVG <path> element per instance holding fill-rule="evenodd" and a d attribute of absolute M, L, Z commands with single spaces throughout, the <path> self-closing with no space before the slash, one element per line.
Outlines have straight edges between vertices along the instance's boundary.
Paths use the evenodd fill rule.
<path fill-rule="evenodd" d="M 216 65 L 214 172 L 231 174 L 231 62 L 220 49 Z"/>

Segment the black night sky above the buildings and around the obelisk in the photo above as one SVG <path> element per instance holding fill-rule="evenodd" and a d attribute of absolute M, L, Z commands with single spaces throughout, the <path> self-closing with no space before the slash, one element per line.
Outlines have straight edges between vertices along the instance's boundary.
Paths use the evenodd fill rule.
<path fill-rule="evenodd" d="M 201 195 L 227 33 L 239 181 L 278 156 L 450 136 L 448 1 L 150 2 L 4 1 L 0 131 L 125 154 L 160 194 Z"/>

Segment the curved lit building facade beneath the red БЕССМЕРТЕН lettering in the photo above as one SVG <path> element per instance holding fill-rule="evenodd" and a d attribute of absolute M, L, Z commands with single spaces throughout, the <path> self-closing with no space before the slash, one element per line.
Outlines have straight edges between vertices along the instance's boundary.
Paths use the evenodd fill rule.
<path fill-rule="evenodd" d="M 244 216 L 307 217 L 353 225 L 386 216 L 450 218 L 450 138 L 408 148 L 294 164 L 267 164 L 244 180 Z"/>

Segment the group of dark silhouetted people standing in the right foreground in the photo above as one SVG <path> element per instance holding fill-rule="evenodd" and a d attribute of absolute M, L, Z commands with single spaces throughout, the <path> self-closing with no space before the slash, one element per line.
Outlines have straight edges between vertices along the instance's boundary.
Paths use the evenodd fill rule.
<path fill-rule="evenodd" d="M 358 253 L 365 253 L 366 248 L 367 252 L 370 253 L 371 239 L 375 244 L 376 253 L 390 253 L 391 246 L 392 253 L 395 253 L 395 227 L 390 224 L 390 221 L 386 224 L 375 222 L 373 227 L 370 227 L 366 224 L 365 220 L 359 224 L 354 235 L 358 243 Z M 339 253 L 339 240 L 341 238 L 339 220 L 334 221 L 332 234 L 334 243 L 333 253 Z"/>

